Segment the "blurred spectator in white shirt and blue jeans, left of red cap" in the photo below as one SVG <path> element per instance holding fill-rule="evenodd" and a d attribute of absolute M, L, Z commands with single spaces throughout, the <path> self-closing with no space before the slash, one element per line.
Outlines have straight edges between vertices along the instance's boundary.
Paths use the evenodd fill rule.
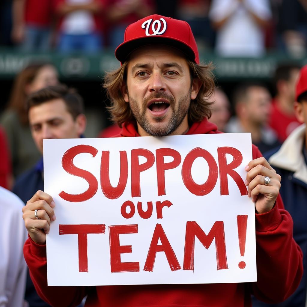
<path fill-rule="evenodd" d="M 54 0 L 60 17 L 60 52 L 99 52 L 103 48 L 105 2 L 107 0 Z"/>

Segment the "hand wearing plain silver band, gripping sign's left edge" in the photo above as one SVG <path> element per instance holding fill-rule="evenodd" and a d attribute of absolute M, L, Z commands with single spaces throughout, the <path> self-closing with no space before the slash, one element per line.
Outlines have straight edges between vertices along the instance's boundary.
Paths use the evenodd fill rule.
<path fill-rule="evenodd" d="M 56 219 L 53 208 L 55 203 L 52 197 L 43 192 L 37 191 L 22 208 L 25 227 L 31 239 L 37 244 L 46 243 L 46 234 L 49 233 L 50 223 Z M 37 210 L 35 216 L 35 210 Z"/>

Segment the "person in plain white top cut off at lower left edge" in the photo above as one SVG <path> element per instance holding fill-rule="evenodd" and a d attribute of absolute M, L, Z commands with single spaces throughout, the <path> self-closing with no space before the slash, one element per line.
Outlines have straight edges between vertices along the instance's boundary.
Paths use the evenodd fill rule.
<path fill-rule="evenodd" d="M 0 306 L 24 307 L 27 266 L 23 245 L 27 231 L 22 220 L 23 202 L 0 187 Z"/>

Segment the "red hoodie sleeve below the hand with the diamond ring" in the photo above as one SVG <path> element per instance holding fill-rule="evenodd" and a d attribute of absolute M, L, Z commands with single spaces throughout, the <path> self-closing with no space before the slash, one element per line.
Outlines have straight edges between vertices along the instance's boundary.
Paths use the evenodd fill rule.
<path fill-rule="evenodd" d="M 253 146 L 253 159 L 258 157 L 262 154 Z M 299 285 L 303 254 L 293 239 L 293 221 L 280 194 L 272 210 L 256 213 L 255 218 L 257 282 L 251 283 L 252 293 L 261 301 L 278 303 Z"/>

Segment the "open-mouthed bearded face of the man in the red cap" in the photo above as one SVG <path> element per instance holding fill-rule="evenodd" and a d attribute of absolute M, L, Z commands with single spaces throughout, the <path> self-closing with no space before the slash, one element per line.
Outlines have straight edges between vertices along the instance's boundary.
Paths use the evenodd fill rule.
<path fill-rule="evenodd" d="M 183 54 L 164 45 L 134 51 L 127 66 L 122 94 L 141 136 L 183 134 L 188 130 L 188 109 L 199 91 L 191 80 Z"/>

